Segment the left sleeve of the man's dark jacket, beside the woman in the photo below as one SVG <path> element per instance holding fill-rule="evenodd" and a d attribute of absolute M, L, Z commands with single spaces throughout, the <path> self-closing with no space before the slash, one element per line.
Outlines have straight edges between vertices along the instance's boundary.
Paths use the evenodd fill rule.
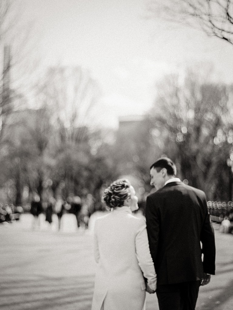
<path fill-rule="evenodd" d="M 153 204 L 150 196 L 146 200 L 146 227 L 148 233 L 150 253 L 153 262 L 156 262 L 157 251 L 158 251 L 158 238 L 159 238 L 159 213 L 158 209 Z"/>

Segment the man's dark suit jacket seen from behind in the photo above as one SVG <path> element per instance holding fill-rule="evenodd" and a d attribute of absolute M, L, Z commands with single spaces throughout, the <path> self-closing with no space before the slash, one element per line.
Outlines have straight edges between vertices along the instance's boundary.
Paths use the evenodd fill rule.
<path fill-rule="evenodd" d="M 166 184 L 147 197 L 146 222 L 158 284 L 215 274 L 214 232 L 203 191 L 182 182 Z"/>

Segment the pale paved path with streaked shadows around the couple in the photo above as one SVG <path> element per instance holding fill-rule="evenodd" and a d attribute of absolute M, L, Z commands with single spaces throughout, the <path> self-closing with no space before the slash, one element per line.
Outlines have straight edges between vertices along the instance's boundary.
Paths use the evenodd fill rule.
<path fill-rule="evenodd" d="M 42 218 L 43 219 L 43 218 Z M 31 230 L 32 218 L 0 225 L 1 310 L 90 310 L 94 288 L 92 225 L 77 231 L 75 218 L 56 219 L 49 227 Z M 214 224 L 216 276 L 200 288 L 196 310 L 233 309 L 233 236 Z M 156 295 L 147 294 L 147 310 L 158 310 Z M 133 310 L 133 309 L 129 309 Z"/>

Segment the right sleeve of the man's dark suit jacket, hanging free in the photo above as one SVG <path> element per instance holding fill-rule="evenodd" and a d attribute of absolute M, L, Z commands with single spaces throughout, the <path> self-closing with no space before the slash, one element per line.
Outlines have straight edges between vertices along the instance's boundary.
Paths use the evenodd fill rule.
<path fill-rule="evenodd" d="M 208 214 L 206 198 L 204 197 L 205 218 L 201 229 L 201 243 L 203 252 L 203 271 L 209 274 L 215 274 L 215 239 L 212 224 Z"/>

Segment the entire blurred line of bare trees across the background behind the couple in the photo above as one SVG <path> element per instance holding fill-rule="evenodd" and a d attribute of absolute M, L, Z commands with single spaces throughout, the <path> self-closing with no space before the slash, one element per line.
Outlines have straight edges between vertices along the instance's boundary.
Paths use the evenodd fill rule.
<path fill-rule="evenodd" d="M 121 119 L 110 131 L 86 125 L 100 95 L 89 73 L 49 69 L 37 87 L 38 108 L 14 108 L 24 98 L 11 97 L 0 142 L 1 199 L 24 206 L 33 192 L 42 200 L 91 194 L 98 210 L 103 189 L 129 176 L 144 201 L 149 166 L 166 155 L 209 200 L 232 200 L 233 86 L 208 82 L 201 71 L 168 75 L 147 115 Z"/>

